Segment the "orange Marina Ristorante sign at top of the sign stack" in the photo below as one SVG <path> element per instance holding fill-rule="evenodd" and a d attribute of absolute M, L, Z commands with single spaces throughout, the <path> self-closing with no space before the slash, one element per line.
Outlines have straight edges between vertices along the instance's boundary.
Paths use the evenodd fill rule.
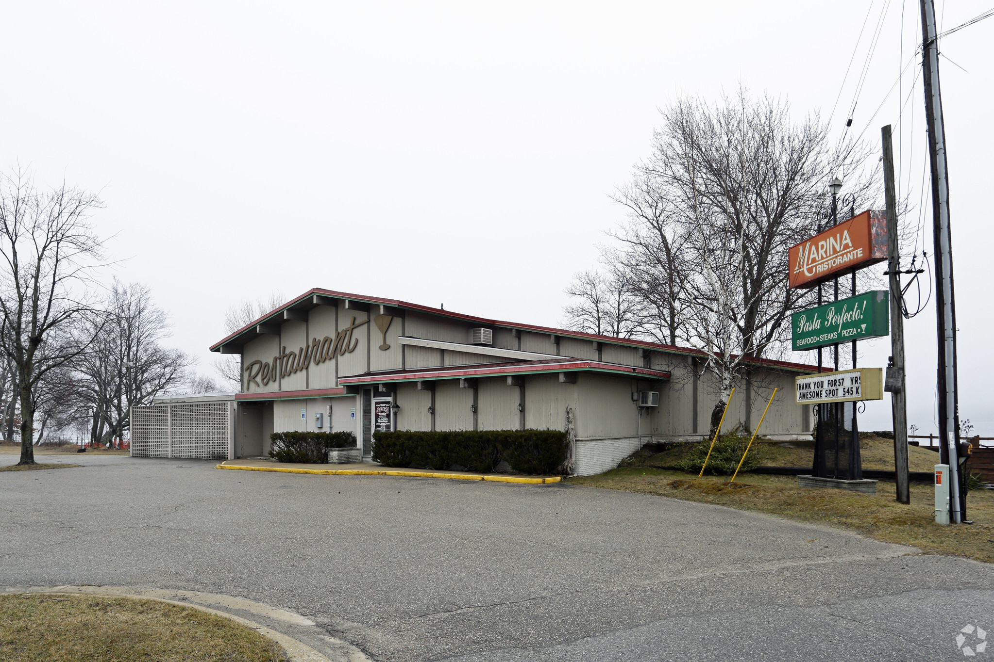
<path fill-rule="evenodd" d="M 789 287 L 811 288 L 887 259 L 887 218 L 864 211 L 787 251 Z"/>

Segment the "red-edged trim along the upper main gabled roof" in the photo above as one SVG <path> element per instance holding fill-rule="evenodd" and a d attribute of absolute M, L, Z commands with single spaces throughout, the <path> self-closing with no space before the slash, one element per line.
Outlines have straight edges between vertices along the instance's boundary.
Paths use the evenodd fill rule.
<path fill-rule="evenodd" d="M 312 288 L 300 295 L 299 297 L 288 301 L 282 306 L 273 309 L 258 318 L 251 324 L 246 325 L 242 329 L 225 336 L 220 341 L 211 345 L 210 350 L 215 351 L 218 347 L 225 344 L 229 340 L 238 335 L 241 335 L 245 331 L 248 331 L 255 325 L 261 324 L 271 318 L 273 315 L 282 312 L 283 310 L 289 308 L 293 304 L 302 301 L 311 295 L 320 294 L 326 297 L 333 297 L 335 299 L 351 299 L 353 301 L 360 301 L 363 303 L 372 304 L 382 304 L 384 306 L 391 306 L 394 308 L 403 308 L 409 311 L 416 311 L 419 313 L 425 313 L 427 315 L 437 315 L 444 318 L 450 318 L 453 320 L 463 320 L 465 322 L 475 322 L 479 324 L 489 325 L 492 327 L 503 327 L 505 329 L 522 329 L 525 331 L 538 331 L 541 333 L 549 333 L 555 335 L 565 335 L 567 337 L 596 340 L 598 342 L 609 342 L 611 344 L 621 344 L 630 347 L 645 347 L 648 349 L 656 349 L 658 351 L 666 351 L 675 354 L 685 354 L 689 356 L 707 356 L 707 352 L 701 349 L 695 349 L 694 347 L 678 347 L 670 344 L 661 344 L 659 342 L 650 342 L 649 340 L 637 340 L 634 338 L 621 338 L 615 337 L 613 335 L 598 335 L 596 333 L 585 333 L 583 331 L 570 331 L 567 329 L 555 329 L 553 327 L 538 327 L 536 325 L 524 325 L 517 324 L 514 322 L 502 322 L 500 320 L 488 320 L 487 318 L 478 318 L 473 315 L 464 315 L 462 313 L 452 313 L 440 308 L 431 308 L 429 306 L 421 306 L 420 304 L 412 304 L 407 301 L 400 301 L 397 299 L 383 299 L 380 297 L 367 297 L 365 295 L 350 294 L 348 292 L 336 292 L 335 290 L 324 290 L 322 288 Z M 751 363 L 753 365 L 769 365 L 771 367 L 786 368 L 789 370 L 797 370 L 799 372 L 818 372 L 817 365 L 809 365 L 806 363 L 792 363 L 790 361 L 776 361 L 769 358 L 746 358 L 746 363 Z M 824 368 L 822 368 L 824 371 Z"/>

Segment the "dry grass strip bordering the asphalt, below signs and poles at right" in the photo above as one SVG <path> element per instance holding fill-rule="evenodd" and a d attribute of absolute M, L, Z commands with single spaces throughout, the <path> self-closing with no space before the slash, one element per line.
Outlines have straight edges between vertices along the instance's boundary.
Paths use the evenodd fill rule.
<path fill-rule="evenodd" d="M 740 473 L 729 483 L 721 476 L 698 478 L 652 466 L 622 466 L 568 482 L 756 510 L 913 545 L 928 554 L 994 563 L 994 490 L 990 489 L 967 496 L 967 516 L 973 524 L 941 526 L 935 524 L 932 512 L 932 485 L 912 484 L 911 504 L 905 505 L 895 500 L 893 482 L 879 482 L 877 496 L 869 496 L 842 489 L 801 489 L 795 476 Z"/>

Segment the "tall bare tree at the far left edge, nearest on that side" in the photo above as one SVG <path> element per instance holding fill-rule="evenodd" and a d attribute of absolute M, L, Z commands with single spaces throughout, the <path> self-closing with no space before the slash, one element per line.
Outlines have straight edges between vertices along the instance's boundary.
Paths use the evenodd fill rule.
<path fill-rule="evenodd" d="M 100 206 L 77 189 L 39 193 L 24 173 L 0 175 L 0 352 L 15 366 L 21 460 L 34 464 L 37 390 L 52 370 L 76 358 L 99 331 L 91 269 L 102 245 L 88 221 Z"/>

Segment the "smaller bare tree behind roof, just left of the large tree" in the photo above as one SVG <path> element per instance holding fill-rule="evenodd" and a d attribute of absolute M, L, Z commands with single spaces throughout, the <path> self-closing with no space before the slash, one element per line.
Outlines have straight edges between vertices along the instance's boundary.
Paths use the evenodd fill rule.
<path fill-rule="evenodd" d="M 578 301 L 564 309 L 567 329 L 635 337 L 641 331 L 641 302 L 635 296 L 631 274 L 619 268 L 616 258 L 606 253 L 604 270 L 577 274 L 565 292 Z"/>

